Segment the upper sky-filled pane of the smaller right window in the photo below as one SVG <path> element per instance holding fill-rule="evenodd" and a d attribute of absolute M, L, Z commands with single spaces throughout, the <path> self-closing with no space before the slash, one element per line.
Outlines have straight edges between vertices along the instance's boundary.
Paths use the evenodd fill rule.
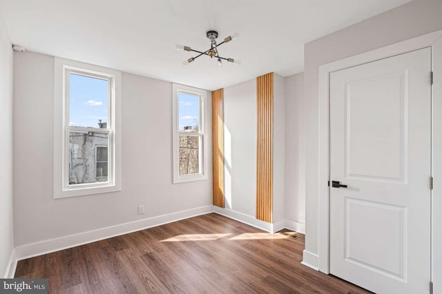
<path fill-rule="evenodd" d="M 199 132 L 200 96 L 178 92 L 178 122 L 180 132 Z"/>

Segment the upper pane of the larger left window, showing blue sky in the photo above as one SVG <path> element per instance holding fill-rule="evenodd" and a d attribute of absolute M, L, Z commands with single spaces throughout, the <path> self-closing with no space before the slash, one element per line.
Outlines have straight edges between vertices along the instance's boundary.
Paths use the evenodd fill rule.
<path fill-rule="evenodd" d="M 107 122 L 108 80 L 71 72 L 69 74 L 69 125 L 106 128 Z"/>

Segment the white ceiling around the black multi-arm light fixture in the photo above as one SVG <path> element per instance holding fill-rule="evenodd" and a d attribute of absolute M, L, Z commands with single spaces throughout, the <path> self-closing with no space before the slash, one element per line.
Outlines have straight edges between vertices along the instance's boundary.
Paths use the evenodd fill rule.
<path fill-rule="evenodd" d="M 206 90 L 267 72 L 303 71 L 304 44 L 410 0 L 0 0 L 12 43 Z M 220 55 L 242 65 L 178 51 L 209 48 L 206 30 L 240 38 Z"/>

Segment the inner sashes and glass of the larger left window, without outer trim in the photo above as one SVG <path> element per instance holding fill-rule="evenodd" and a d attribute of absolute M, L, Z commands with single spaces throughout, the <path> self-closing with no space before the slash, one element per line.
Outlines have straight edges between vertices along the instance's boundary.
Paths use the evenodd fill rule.
<path fill-rule="evenodd" d="M 107 151 L 111 129 L 113 78 L 66 68 L 66 136 L 68 187 L 108 182 Z M 98 145 L 104 146 L 101 149 Z M 73 148 L 72 148 L 73 147 Z M 106 156 L 101 150 L 106 149 Z M 76 152 L 79 149 L 80 152 Z M 102 158 L 98 158 L 101 156 Z M 102 161 L 99 161 L 102 159 Z M 106 159 L 105 161 L 103 161 Z M 98 167 L 99 166 L 99 167 Z M 98 176 L 100 171 L 101 176 Z M 103 176 L 103 171 L 105 176 Z"/>

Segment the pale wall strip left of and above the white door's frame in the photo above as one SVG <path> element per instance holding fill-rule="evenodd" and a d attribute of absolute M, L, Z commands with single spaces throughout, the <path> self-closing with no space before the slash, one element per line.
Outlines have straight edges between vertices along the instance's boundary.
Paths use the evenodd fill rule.
<path fill-rule="evenodd" d="M 442 29 L 442 1 L 415 0 L 305 45 L 306 240 L 318 254 L 318 67 Z"/>

